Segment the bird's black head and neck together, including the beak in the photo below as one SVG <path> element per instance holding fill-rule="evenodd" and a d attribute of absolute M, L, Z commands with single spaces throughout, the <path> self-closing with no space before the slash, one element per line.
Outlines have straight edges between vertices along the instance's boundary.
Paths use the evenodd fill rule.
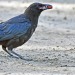
<path fill-rule="evenodd" d="M 33 3 L 26 10 L 25 15 L 35 24 L 38 22 L 38 17 L 43 10 L 52 9 L 52 5 Z"/>

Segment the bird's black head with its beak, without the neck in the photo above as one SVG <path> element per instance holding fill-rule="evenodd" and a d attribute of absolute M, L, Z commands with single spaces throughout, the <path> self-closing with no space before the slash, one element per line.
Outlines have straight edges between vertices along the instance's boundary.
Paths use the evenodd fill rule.
<path fill-rule="evenodd" d="M 27 9 L 26 13 L 33 13 L 36 15 L 40 15 L 43 10 L 52 9 L 52 5 L 42 4 L 42 3 L 33 3 Z"/>

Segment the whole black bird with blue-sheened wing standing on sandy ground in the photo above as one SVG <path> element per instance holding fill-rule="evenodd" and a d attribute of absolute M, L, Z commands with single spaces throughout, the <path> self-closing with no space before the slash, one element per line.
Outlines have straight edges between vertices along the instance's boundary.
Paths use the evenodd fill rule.
<path fill-rule="evenodd" d="M 24 59 L 13 48 L 23 45 L 35 31 L 38 18 L 43 10 L 52 9 L 52 5 L 33 3 L 23 14 L 0 23 L 0 45 L 10 56 Z M 15 56 L 16 55 L 16 56 Z"/>

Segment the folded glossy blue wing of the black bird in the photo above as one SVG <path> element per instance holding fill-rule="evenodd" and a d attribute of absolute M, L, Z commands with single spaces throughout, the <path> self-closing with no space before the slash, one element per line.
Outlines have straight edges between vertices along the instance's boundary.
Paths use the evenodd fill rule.
<path fill-rule="evenodd" d="M 31 27 L 31 22 L 24 15 L 20 15 L 0 24 L 0 41 L 18 38 Z"/>

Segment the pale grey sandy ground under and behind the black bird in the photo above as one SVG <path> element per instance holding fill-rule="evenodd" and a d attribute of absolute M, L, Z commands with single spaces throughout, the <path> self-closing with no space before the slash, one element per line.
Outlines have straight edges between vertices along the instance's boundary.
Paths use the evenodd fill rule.
<path fill-rule="evenodd" d="M 0 75 L 75 75 L 75 5 L 51 4 L 53 10 L 41 14 L 31 39 L 14 49 L 32 60 L 12 58 L 0 47 Z M 25 8 L 1 5 L 0 21 L 22 13 Z"/>

